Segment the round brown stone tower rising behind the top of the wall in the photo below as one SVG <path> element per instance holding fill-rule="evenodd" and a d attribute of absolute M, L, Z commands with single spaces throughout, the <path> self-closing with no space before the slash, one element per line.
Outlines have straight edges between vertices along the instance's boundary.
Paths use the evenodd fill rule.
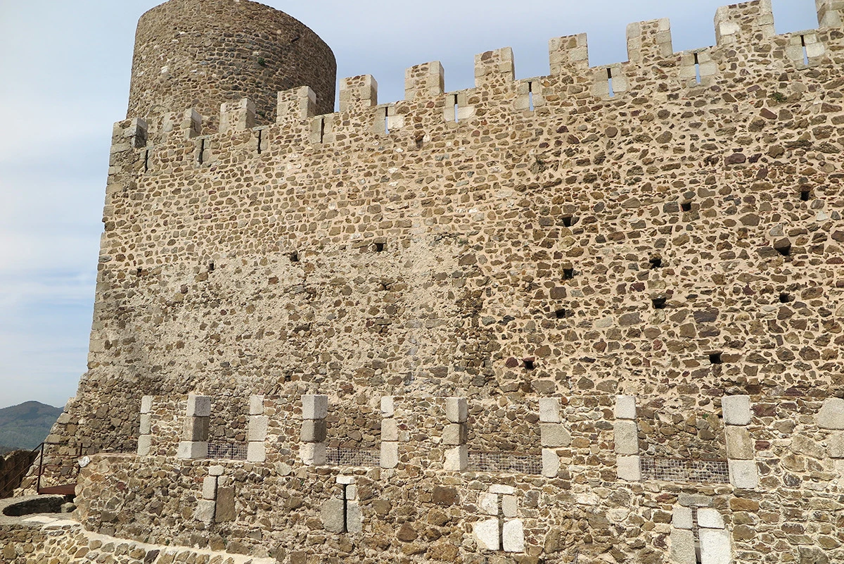
<path fill-rule="evenodd" d="M 330 113 L 336 81 L 331 48 L 283 12 L 248 0 L 170 0 L 138 22 L 127 117 L 195 108 L 214 124 L 220 104 L 250 98 L 267 123 L 276 93 L 298 86 Z"/>

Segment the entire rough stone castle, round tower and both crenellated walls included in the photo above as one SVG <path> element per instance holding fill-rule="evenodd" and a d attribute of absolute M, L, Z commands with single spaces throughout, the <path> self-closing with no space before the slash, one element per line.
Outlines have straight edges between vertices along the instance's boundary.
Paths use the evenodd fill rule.
<path fill-rule="evenodd" d="M 630 24 L 599 68 L 554 39 L 534 79 L 485 52 L 458 92 L 428 62 L 394 103 L 343 79 L 336 112 L 298 22 L 155 8 L 51 434 L 93 458 L 79 527 L 13 527 L 6 561 L 844 561 L 844 2 L 816 3 L 787 35 L 720 8 L 688 52 Z"/>

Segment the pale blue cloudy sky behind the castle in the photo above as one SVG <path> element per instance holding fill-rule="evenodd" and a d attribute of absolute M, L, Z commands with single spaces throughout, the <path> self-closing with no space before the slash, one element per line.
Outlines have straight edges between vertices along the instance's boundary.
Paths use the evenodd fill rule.
<path fill-rule="evenodd" d="M 125 117 L 138 17 L 156 0 L 0 0 L 0 408 L 61 406 L 86 370 L 111 125 Z M 473 85 L 475 53 L 511 46 L 517 78 L 549 73 L 548 40 L 587 32 L 593 66 L 627 59 L 626 24 L 668 17 L 674 50 L 712 45 L 728 0 L 264 0 L 333 48 L 338 77 L 439 60 Z M 776 30 L 817 26 L 813 0 L 773 0 Z"/>

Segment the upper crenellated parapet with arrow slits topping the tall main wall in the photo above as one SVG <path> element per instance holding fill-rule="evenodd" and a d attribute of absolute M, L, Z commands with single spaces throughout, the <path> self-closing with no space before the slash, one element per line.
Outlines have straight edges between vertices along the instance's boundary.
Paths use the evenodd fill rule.
<path fill-rule="evenodd" d="M 404 100 L 379 104 L 376 79 L 352 77 L 340 83 L 337 113 L 317 115 L 317 95 L 313 89 L 299 87 L 279 92 L 272 131 L 264 131 L 266 126 L 255 128 L 260 120 L 255 104 L 243 100 L 224 104 L 219 117 L 202 117 L 210 127 L 197 123 L 200 118 L 193 113 L 191 119 L 172 113 L 150 117 L 149 144 L 166 144 L 167 133 L 174 133 L 177 138 L 210 135 L 208 142 L 219 146 L 230 134 L 250 130 L 253 136 L 262 136 L 260 142 L 252 142 L 257 148 L 268 137 L 281 138 L 276 132 L 291 127 L 298 133 L 285 134 L 284 142 L 300 147 L 366 144 L 375 138 L 398 142 L 405 135 L 416 141 L 425 136 L 414 133 L 420 129 L 443 122 L 459 127 L 481 114 L 488 119 L 493 108 L 495 113 L 509 111 L 529 118 L 534 112 L 571 116 L 585 104 L 590 106 L 588 111 L 609 115 L 635 105 L 636 97 L 643 95 L 681 106 L 689 96 L 705 95 L 705 88 L 776 88 L 781 73 L 836 64 L 834 53 L 841 50 L 841 24 L 836 19 L 840 13 L 838 3 L 819 1 L 820 29 L 775 35 L 769 1 L 734 4 L 717 10 L 717 45 L 689 52 L 674 52 L 668 19 L 638 22 L 627 28 L 627 62 L 590 68 L 587 36 L 560 37 L 549 41 L 550 74 L 545 77 L 517 81 L 513 53 L 504 48 L 475 57 L 473 89 L 446 93 L 440 62 L 428 62 L 408 68 Z M 479 114 L 481 108 L 484 111 Z M 214 128 L 218 122 L 220 127 Z M 149 165 L 147 158 L 146 170 Z"/>

